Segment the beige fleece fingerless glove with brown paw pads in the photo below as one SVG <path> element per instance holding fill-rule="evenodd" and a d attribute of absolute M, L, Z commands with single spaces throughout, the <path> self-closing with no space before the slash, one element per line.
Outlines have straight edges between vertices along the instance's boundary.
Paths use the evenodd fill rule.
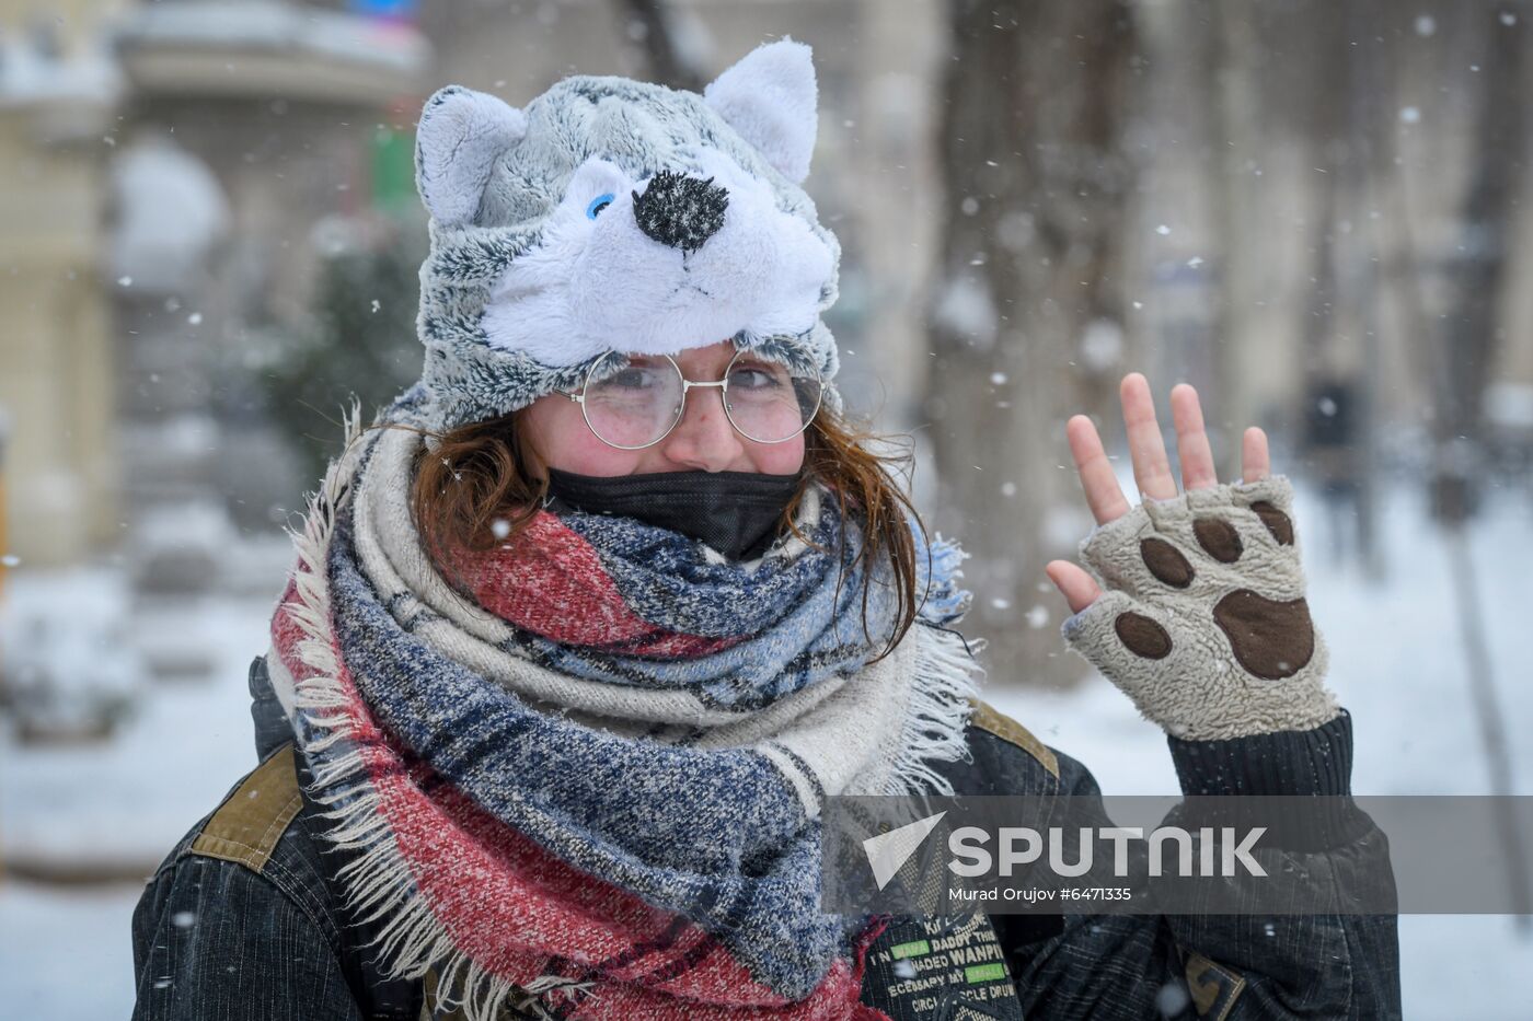
<path fill-rule="evenodd" d="M 1145 717 L 1185 740 L 1334 719 L 1292 506 L 1285 475 L 1147 497 L 1081 543 L 1102 593 L 1061 633 Z"/>

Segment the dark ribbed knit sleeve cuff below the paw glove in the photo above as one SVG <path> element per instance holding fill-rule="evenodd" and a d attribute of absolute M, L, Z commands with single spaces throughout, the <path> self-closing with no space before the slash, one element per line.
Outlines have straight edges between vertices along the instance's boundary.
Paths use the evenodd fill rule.
<path fill-rule="evenodd" d="M 1294 851 L 1328 851 L 1374 829 L 1351 799 L 1352 716 L 1346 710 L 1314 730 L 1226 740 L 1167 736 L 1167 742 L 1188 796 L 1179 814 L 1188 822 L 1263 825 L 1274 846 Z M 1229 802 L 1226 796 L 1262 800 Z"/>

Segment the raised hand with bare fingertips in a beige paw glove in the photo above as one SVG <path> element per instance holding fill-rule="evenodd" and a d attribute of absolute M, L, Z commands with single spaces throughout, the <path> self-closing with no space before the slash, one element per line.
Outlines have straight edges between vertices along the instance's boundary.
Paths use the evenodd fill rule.
<path fill-rule="evenodd" d="M 1171 389 L 1185 492 L 1160 442 L 1150 385 L 1119 396 L 1142 501 L 1124 498 L 1091 420 L 1065 426 L 1096 527 L 1084 567 L 1047 573 L 1070 604 L 1069 644 L 1168 733 L 1187 739 L 1308 730 L 1338 708 L 1309 618 L 1292 488 L 1269 474 L 1266 434 L 1242 438 L 1243 480 L 1220 484 L 1197 391 Z"/>

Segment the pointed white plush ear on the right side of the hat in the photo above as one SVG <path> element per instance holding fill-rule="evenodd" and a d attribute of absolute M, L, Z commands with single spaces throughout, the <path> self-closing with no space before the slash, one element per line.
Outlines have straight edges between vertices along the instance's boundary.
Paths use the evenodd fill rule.
<path fill-rule="evenodd" d="M 794 184 L 809 176 L 819 129 L 812 51 L 789 38 L 757 46 L 702 90 L 704 101 Z"/>

